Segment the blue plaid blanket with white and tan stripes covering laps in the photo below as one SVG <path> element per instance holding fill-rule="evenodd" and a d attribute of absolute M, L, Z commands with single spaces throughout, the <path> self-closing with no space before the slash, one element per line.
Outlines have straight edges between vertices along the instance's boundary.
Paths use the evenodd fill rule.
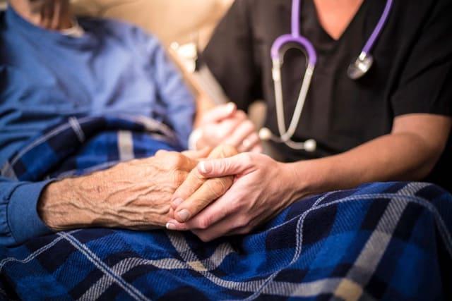
<path fill-rule="evenodd" d="M 143 129 L 140 133 L 148 135 Z M 113 130 L 118 128 L 107 132 Z M 92 137 L 107 141 L 96 139 L 102 133 Z M 148 153 L 170 147 L 155 137 L 146 145 Z M 82 155 L 91 154 L 79 146 L 66 159 L 83 161 Z M 49 164 L 55 173 L 66 160 L 54 161 L 60 163 Z M 68 171 L 77 173 L 72 167 Z M 13 161 L 6 169 L 17 178 L 34 177 L 20 173 Z M 33 169 L 39 177 L 51 174 Z M 191 233 L 98 228 L 0 248 L 0 295 L 20 300 L 451 300 L 451 231 L 452 196 L 441 188 L 374 183 L 303 199 L 254 233 L 208 243 Z"/>

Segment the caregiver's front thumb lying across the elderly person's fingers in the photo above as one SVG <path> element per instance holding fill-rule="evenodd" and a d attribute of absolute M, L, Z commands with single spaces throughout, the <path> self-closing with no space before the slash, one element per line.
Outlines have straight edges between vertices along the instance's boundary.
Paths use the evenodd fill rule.
<path fill-rule="evenodd" d="M 238 154 L 225 159 L 202 161 L 198 172 L 206 178 L 220 178 L 246 173 L 253 166 L 250 154 Z"/>

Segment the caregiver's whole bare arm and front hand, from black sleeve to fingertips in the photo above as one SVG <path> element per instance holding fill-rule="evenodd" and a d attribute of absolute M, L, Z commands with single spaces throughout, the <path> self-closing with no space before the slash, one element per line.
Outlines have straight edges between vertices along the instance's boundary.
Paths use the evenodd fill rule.
<path fill-rule="evenodd" d="M 220 198 L 198 197 L 200 206 L 187 179 L 175 192 L 179 202 L 173 202 L 175 219 L 167 228 L 191 230 L 208 241 L 248 233 L 307 195 L 376 181 L 422 180 L 444 152 L 451 125 L 447 116 L 408 114 L 395 118 L 391 134 L 323 159 L 283 164 L 262 154 L 239 154 L 203 161 L 197 168 L 202 177 L 234 176 L 234 185 Z"/>

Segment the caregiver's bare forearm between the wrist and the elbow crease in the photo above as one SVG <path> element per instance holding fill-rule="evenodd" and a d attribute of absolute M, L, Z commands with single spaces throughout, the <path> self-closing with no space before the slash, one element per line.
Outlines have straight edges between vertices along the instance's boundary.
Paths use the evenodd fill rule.
<path fill-rule="evenodd" d="M 387 135 L 343 154 L 293 166 L 311 194 L 369 182 L 420 180 L 434 164 L 433 158 L 422 152 L 424 147 L 410 135 Z"/>

